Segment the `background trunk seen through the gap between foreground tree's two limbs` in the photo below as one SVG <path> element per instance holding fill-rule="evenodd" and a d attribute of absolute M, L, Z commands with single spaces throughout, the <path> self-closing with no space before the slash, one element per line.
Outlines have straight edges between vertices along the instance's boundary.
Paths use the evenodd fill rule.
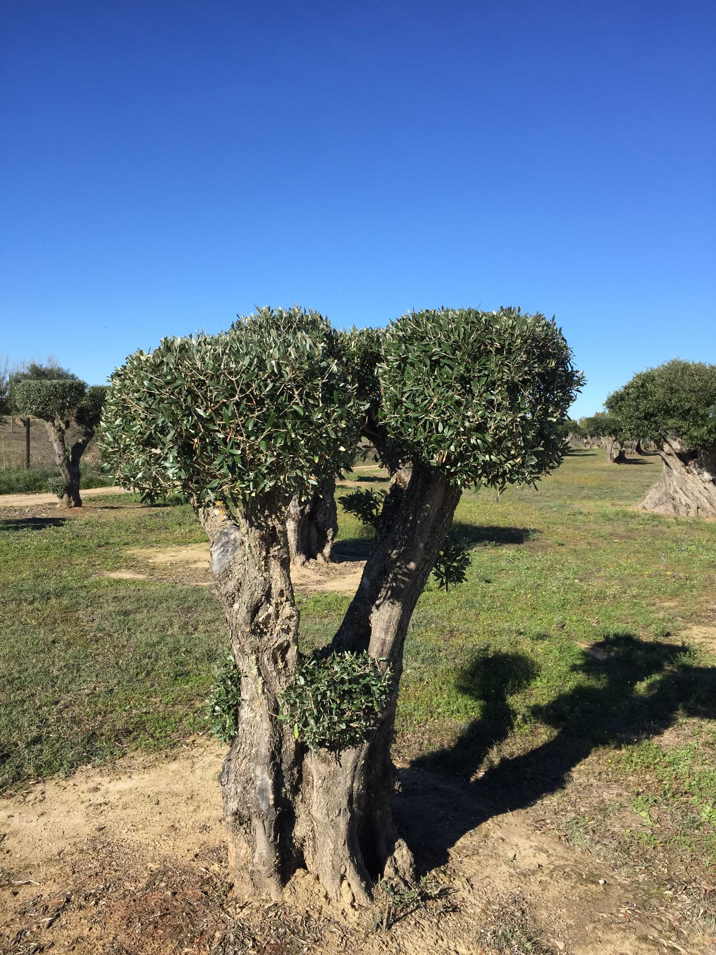
<path fill-rule="evenodd" d="M 329 563 L 333 541 L 338 534 L 336 482 L 332 477 L 320 481 L 307 499 L 294 495 L 286 509 L 285 525 L 291 561 Z"/>

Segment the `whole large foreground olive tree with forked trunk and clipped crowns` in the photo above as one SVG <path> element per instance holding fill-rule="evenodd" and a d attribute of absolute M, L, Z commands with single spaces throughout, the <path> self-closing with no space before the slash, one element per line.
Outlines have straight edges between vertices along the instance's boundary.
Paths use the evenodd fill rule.
<path fill-rule="evenodd" d="M 165 339 L 112 379 L 102 447 L 117 477 L 180 487 L 211 541 L 242 674 L 220 780 L 245 892 L 279 898 L 305 867 L 333 898 L 369 902 L 381 873 L 411 876 L 390 815 L 390 743 L 413 608 L 462 489 L 555 468 L 579 390 L 542 315 L 422 311 L 382 339 L 362 369 L 360 342 L 320 315 L 266 308 L 224 334 Z M 388 493 L 343 623 L 302 658 L 285 508 L 315 474 L 349 465 L 362 420 L 388 449 Z"/>

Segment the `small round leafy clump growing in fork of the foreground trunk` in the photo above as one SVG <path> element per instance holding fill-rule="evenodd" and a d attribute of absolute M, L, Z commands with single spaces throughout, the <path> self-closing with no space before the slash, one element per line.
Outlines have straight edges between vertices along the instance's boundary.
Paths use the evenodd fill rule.
<path fill-rule="evenodd" d="M 368 653 L 319 651 L 295 669 L 279 719 L 311 750 L 343 750 L 366 738 L 394 690 L 390 668 Z"/>

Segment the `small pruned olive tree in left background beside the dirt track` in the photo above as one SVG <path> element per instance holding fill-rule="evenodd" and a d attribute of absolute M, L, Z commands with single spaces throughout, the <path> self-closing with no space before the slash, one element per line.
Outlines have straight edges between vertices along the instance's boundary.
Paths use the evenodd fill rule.
<path fill-rule="evenodd" d="M 14 386 L 15 406 L 45 422 L 60 478 L 53 488 L 59 507 L 81 507 L 79 462 L 95 437 L 106 385 L 88 388 L 73 376 L 27 378 Z"/>

